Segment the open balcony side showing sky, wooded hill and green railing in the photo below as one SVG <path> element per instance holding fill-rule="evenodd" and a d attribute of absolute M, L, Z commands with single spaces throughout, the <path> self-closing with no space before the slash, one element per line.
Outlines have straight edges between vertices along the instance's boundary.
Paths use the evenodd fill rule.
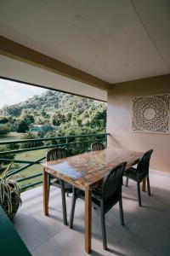
<path fill-rule="evenodd" d="M 22 191 L 42 183 L 49 148 L 73 155 L 106 143 L 105 102 L 9 79 L 0 79 L 0 90 L 0 167 L 14 161 L 10 173 Z"/>

